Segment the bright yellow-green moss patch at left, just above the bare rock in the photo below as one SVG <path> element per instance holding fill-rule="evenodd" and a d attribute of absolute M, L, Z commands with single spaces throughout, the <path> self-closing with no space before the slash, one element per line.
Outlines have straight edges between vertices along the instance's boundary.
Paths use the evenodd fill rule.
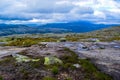
<path fill-rule="evenodd" d="M 56 42 L 57 40 L 54 38 L 31 38 L 31 37 L 23 37 L 23 38 L 14 38 L 9 41 L 6 46 L 22 46 L 22 47 L 29 47 L 34 44 L 38 44 L 39 42 Z"/>

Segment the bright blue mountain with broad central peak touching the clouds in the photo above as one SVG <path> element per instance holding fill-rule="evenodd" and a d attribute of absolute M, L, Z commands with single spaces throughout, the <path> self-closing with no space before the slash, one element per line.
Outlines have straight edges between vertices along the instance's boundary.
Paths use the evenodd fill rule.
<path fill-rule="evenodd" d="M 116 26 L 116 25 L 93 24 L 91 22 L 79 21 L 79 22 L 70 22 L 70 23 L 52 23 L 52 24 L 41 25 L 39 27 L 67 29 L 71 32 L 83 33 L 93 30 L 99 30 L 110 26 Z"/>

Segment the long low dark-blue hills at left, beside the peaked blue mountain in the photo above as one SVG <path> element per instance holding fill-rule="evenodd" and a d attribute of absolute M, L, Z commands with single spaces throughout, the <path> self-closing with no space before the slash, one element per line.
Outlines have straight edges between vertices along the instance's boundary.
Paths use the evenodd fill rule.
<path fill-rule="evenodd" d="M 37 28 L 26 25 L 7 25 L 0 24 L 0 36 L 7 36 L 12 34 L 36 34 L 36 33 L 63 33 L 69 32 L 66 29 L 58 28 Z"/>

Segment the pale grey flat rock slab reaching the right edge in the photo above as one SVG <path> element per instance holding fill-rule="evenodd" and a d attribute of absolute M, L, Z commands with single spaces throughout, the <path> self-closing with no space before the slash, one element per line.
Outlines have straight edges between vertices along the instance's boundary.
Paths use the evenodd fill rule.
<path fill-rule="evenodd" d="M 120 80 L 120 42 L 48 42 L 44 44 L 53 48 L 68 47 L 79 57 L 90 58 L 101 71 L 110 74 L 114 80 Z M 88 47 L 88 50 L 82 49 L 82 45 Z"/>

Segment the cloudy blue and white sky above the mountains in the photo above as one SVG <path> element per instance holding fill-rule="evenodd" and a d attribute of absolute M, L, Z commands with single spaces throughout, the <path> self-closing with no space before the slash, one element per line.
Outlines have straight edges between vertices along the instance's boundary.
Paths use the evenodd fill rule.
<path fill-rule="evenodd" d="M 120 0 L 0 0 L 0 23 L 120 24 Z"/>

